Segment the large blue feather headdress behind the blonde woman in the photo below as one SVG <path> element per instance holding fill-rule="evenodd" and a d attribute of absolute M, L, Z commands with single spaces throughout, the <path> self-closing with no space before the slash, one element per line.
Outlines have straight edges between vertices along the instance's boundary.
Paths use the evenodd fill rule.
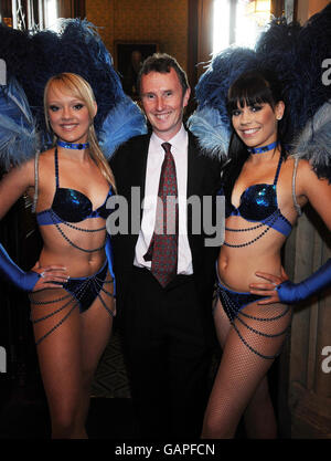
<path fill-rule="evenodd" d="M 0 59 L 6 61 L 8 81 L 14 78 L 18 82 L 0 92 L 1 139 L 2 135 L 10 137 L 8 125 L 11 113 L 3 109 L 8 94 L 18 93 L 17 97 L 24 101 L 24 104 L 15 108 L 15 118 L 21 117 L 24 124 L 17 124 L 15 137 L 10 143 L 1 143 L 0 161 L 6 168 L 9 164 L 18 165 L 31 158 L 34 155 L 31 155 L 31 150 L 35 153 L 36 148 L 44 150 L 50 147 L 52 140 L 44 121 L 43 91 L 47 80 L 62 72 L 76 73 L 90 84 L 98 105 L 94 125 L 107 157 L 120 143 L 147 132 L 145 116 L 125 95 L 110 54 L 96 28 L 86 20 L 62 20 L 58 33 L 50 30 L 28 33 L 1 24 Z M 30 125 L 26 114 L 30 114 Z M 21 132 L 20 126 L 24 128 Z M 31 134 L 28 145 L 26 130 Z M 25 139 L 25 145 L 18 145 L 15 149 L 14 139 Z M 8 149 L 9 146 L 11 149 Z"/>

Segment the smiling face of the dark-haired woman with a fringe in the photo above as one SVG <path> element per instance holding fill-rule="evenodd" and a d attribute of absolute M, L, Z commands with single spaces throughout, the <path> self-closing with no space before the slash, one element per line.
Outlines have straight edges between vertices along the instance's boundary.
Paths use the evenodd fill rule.
<path fill-rule="evenodd" d="M 268 103 L 252 106 L 237 105 L 232 112 L 232 124 L 238 137 L 248 147 L 261 147 L 277 140 L 277 121 L 282 117 L 284 103 L 275 109 Z"/>

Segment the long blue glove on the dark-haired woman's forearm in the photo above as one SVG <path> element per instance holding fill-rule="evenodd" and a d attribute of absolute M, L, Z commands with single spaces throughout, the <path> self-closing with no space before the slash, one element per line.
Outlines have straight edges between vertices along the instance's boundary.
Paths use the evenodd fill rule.
<path fill-rule="evenodd" d="M 316 271 L 308 279 L 300 283 L 292 283 L 289 280 L 277 286 L 278 296 L 281 303 L 296 304 L 307 300 L 312 294 L 331 285 L 331 259 Z"/>

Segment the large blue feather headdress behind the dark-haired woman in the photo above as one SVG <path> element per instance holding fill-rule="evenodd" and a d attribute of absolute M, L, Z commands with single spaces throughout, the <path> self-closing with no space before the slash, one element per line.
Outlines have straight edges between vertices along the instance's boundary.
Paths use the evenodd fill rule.
<path fill-rule="evenodd" d="M 212 60 L 196 85 L 199 105 L 189 118 L 190 129 L 209 155 L 224 158 L 232 132 L 226 112 L 231 84 L 246 71 L 271 70 L 281 82 L 286 104 L 284 143 L 296 156 L 308 159 L 319 177 L 331 180 L 327 135 L 331 85 L 324 85 L 322 78 L 322 63 L 330 56 L 331 4 L 303 27 L 274 20 L 255 50 L 229 48 Z"/>

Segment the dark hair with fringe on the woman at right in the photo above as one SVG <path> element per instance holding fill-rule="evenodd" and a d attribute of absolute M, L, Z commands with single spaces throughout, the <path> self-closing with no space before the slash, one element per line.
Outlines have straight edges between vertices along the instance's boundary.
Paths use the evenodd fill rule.
<path fill-rule="evenodd" d="M 267 70 L 257 70 L 245 72 L 234 81 L 227 93 L 226 108 L 228 116 L 232 117 L 233 111 L 237 107 L 254 106 L 256 104 L 269 104 L 275 109 L 276 105 L 282 99 L 280 82 L 276 75 Z M 278 122 L 277 139 L 280 143 L 280 151 L 284 157 L 287 156 L 284 147 L 284 126 Z M 223 187 L 225 197 L 231 200 L 231 193 L 234 184 L 239 176 L 242 168 L 247 160 L 249 153 L 245 143 L 233 130 L 229 147 L 228 159 L 223 169 Z"/>

